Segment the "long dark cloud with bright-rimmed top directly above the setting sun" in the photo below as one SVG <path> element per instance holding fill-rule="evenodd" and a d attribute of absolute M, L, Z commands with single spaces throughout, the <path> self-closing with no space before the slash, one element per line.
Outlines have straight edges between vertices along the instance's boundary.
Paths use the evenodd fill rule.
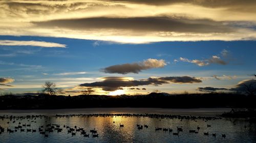
<path fill-rule="evenodd" d="M 140 85 L 161 85 L 167 83 L 199 83 L 196 77 L 150 77 L 147 79 L 133 80 L 127 77 L 103 77 L 103 81 L 80 84 L 81 87 L 101 88 L 103 91 L 116 91 L 122 87 L 138 87 Z"/>

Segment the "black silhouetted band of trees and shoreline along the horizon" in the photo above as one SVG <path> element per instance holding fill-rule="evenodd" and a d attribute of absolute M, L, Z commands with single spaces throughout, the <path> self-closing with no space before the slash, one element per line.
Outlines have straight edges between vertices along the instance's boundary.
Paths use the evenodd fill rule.
<path fill-rule="evenodd" d="M 182 94 L 169 95 L 151 93 L 137 96 L 106 95 L 23 95 L 1 96 L 0 109 L 57 109 L 88 107 L 160 107 L 160 108 L 199 108 L 199 107 L 239 107 L 255 108 L 256 96 L 240 94 Z"/>

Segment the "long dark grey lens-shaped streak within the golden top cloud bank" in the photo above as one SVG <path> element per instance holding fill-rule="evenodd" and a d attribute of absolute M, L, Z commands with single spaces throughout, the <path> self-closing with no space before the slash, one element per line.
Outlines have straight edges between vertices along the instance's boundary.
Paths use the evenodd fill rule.
<path fill-rule="evenodd" d="M 61 27 L 71 30 L 118 29 L 137 32 L 229 33 L 233 30 L 222 22 L 184 17 L 94 17 L 33 22 L 38 27 Z"/>

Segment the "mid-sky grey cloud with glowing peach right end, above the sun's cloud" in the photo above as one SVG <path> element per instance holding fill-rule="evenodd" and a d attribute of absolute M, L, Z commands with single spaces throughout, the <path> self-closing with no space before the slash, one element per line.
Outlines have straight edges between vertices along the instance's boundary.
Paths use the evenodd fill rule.
<path fill-rule="evenodd" d="M 102 69 L 105 73 L 139 73 L 141 70 L 148 70 L 152 68 L 163 68 L 166 65 L 164 60 L 157 59 L 147 59 L 143 62 L 133 63 L 133 64 L 122 64 L 106 67 Z"/>

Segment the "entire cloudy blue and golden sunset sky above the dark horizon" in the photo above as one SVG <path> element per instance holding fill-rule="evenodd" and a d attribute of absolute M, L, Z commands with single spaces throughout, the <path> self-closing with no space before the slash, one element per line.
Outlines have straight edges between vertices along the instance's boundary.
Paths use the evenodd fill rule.
<path fill-rule="evenodd" d="M 202 93 L 256 73 L 255 1 L 0 1 L 0 93 Z M 255 79 L 255 78 L 254 78 Z"/>

